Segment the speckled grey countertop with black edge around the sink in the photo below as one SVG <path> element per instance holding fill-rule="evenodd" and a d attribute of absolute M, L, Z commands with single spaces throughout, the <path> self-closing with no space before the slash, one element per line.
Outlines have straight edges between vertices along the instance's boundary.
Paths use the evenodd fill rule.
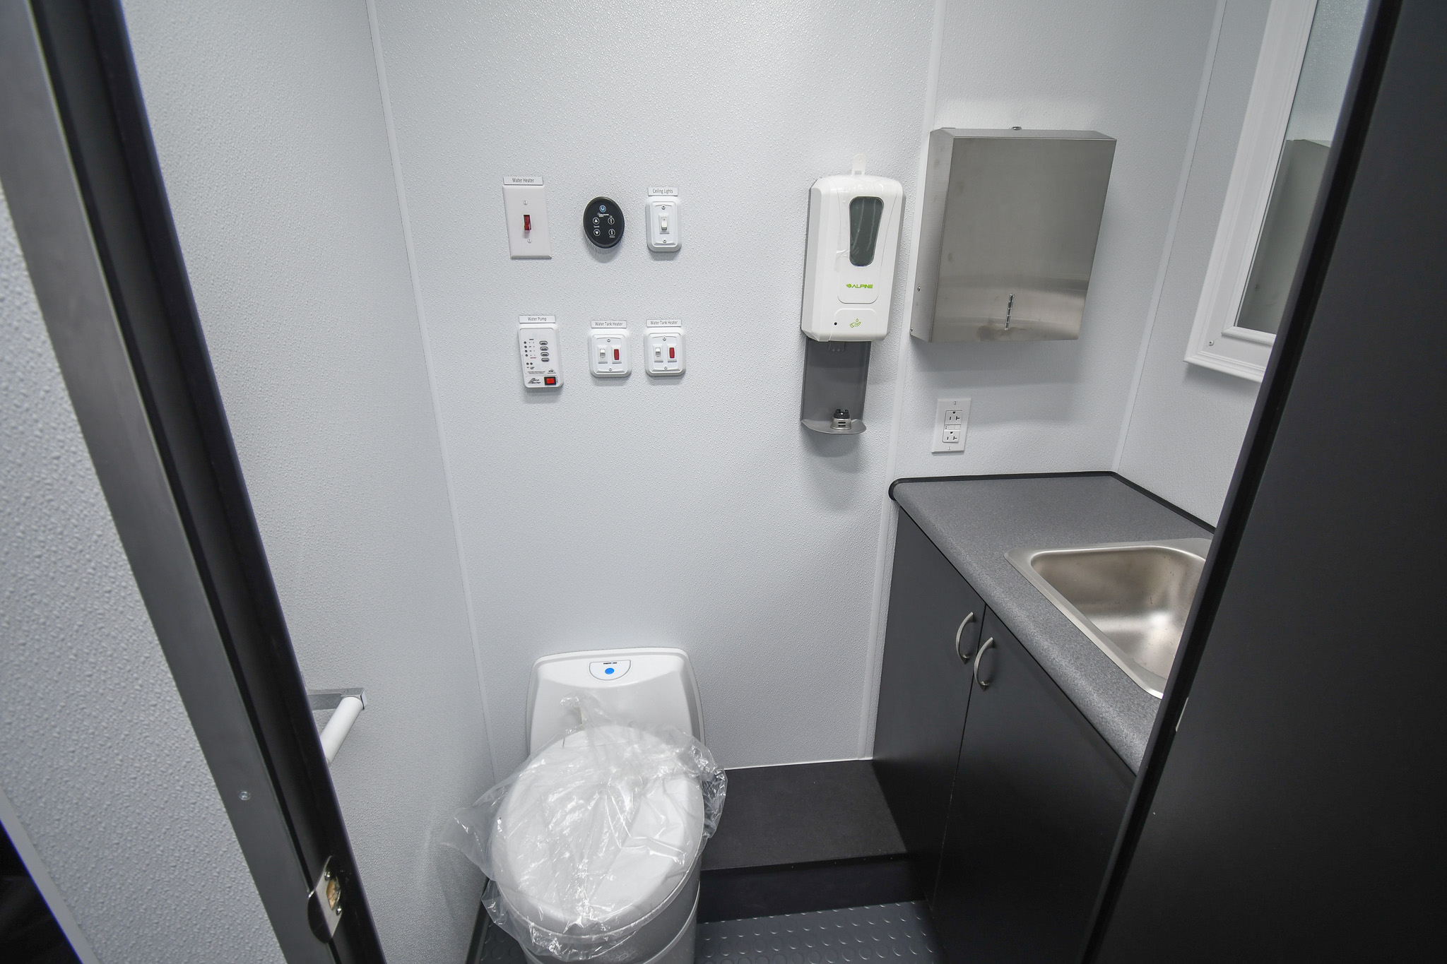
<path fill-rule="evenodd" d="M 894 486 L 894 500 L 1136 770 L 1160 701 L 1100 652 L 1004 554 L 1211 533 L 1111 475 L 906 481 Z"/>

